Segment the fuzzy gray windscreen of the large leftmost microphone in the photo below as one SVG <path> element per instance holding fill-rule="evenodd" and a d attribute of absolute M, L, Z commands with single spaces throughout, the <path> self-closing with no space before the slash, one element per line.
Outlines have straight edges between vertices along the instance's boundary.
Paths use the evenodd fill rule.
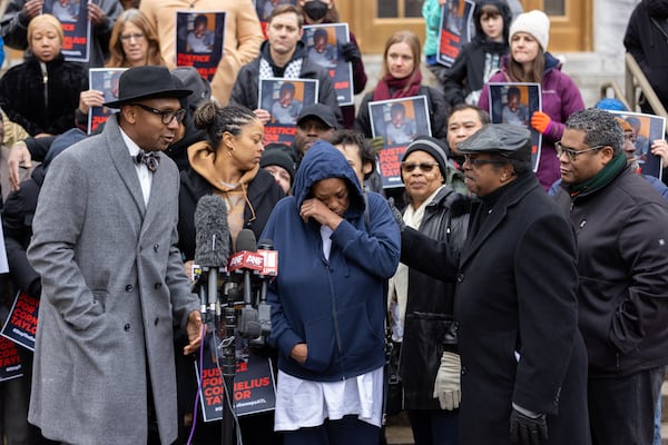
<path fill-rule="evenodd" d="M 205 195 L 195 208 L 195 263 L 203 267 L 226 267 L 228 256 L 227 207 L 219 196 Z"/>

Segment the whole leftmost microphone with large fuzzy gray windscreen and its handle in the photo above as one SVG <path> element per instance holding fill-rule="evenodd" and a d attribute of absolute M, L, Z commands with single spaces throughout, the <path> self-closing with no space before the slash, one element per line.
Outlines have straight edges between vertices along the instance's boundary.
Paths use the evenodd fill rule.
<path fill-rule="evenodd" d="M 212 318 L 218 300 L 218 269 L 227 266 L 228 255 L 227 206 L 219 196 L 205 195 L 195 208 L 194 260 L 202 267 L 203 274 L 207 274 L 207 291 L 200 290 L 199 297 L 203 313 L 210 314 Z"/>

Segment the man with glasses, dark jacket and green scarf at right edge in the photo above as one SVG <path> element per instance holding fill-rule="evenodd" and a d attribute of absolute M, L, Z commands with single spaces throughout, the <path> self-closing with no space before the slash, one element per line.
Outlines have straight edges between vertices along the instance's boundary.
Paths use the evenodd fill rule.
<path fill-rule="evenodd" d="M 592 443 L 651 444 L 668 365 L 668 205 L 628 165 L 611 113 L 573 113 L 556 147 L 556 199 L 578 237 Z"/>

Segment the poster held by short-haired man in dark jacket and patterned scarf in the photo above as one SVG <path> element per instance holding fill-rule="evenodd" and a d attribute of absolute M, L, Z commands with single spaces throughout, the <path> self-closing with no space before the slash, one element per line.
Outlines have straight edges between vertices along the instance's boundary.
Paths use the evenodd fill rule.
<path fill-rule="evenodd" d="M 297 131 L 297 116 L 302 109 L 317 101 L 318 81 L 315 79 L 259 79 L 257 102 L 272 115 L 265 125 L 265 145 L 292 144 Z"/>

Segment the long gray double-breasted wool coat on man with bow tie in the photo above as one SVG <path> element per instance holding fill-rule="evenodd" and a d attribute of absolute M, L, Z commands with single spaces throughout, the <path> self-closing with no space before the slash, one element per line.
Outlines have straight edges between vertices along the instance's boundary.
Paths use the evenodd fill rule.
<path fill-rule="evenodd" d="M 59 155 L 41 188 L 28 249 L 42 279 L 28 418 L 51 439 L 146 443 L 148 375 L 161 442 L 177 438 L 173 319 L 198 310 L 175 247 L 178 171 L 163 155 L 146 207 L 132 162 L 114 116 Z"/>

